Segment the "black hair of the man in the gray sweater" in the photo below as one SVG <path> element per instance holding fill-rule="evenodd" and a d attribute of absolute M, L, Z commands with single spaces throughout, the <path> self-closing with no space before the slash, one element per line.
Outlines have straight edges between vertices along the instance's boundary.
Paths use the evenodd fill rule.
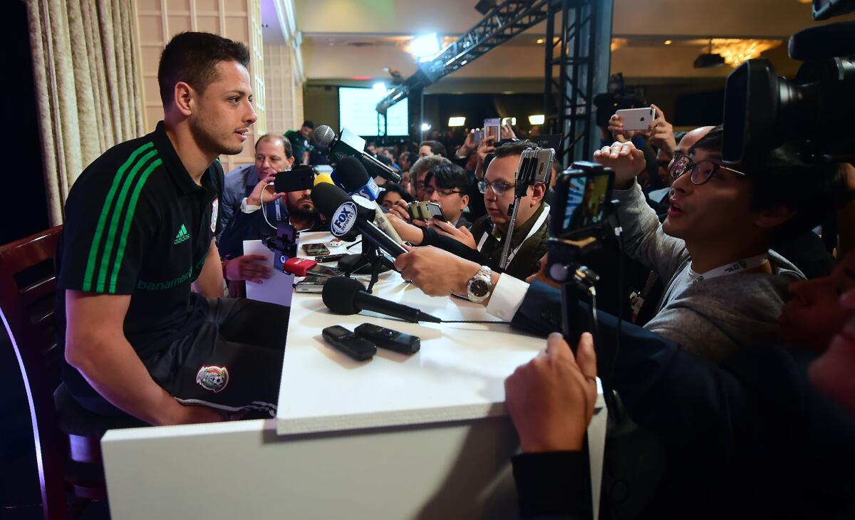
<path fill-rule="evenodd" d="M 700 148 L 722 151 L 722 125 L 698 140 L 689 153 Z M 786 143 L 772 151 L 733 166 L 751 180 L 752 209 L 784 206 L 795 211 L 779 228 L 780 233 L 800 233 L 822 222 L 829 201 L 844 186 L 843 171 L 834 164 L 810 164 L 799 156 L 798 145 Z"/>

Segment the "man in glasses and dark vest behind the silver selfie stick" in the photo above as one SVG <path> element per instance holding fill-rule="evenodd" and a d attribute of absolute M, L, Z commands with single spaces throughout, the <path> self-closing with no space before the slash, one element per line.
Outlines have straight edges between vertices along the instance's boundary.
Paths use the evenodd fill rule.
<path fill-rule="evenodd" d="M 520 199 L 505 269 L 500 269 L 499 259 L 510 227 L 509 207 L 514 202 L 516 167 L 522 151 L 529 148 L 534 148 L 534 144 L 518 141 L 495 150 L 495 157 L 479 181 L 487 215 L 476 220 L 471 231 L 436 220 L 428 222 L 428 227 L 416 227 L 392 216 L 392 212 L 389 221 L 401 238 L 412 245 L 435 245 L 483 266 L 479 273 L 482 277 L 489 278 L 490 272 L 502 270 L 518 280 L 525 280 L 538 271 L 540 258 L 546 254 L 549 206 L 544 202 L 545 184 L 529 186 L 526 196 Z"/>

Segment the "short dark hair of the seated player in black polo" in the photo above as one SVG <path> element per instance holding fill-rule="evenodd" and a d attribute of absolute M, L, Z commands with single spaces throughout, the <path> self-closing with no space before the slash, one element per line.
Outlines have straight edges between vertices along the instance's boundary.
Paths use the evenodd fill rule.
<path fill-rule="evenodd" d="M 174 99 L 175 84 L 184 81 L 200 94 L 220 79 L 217 64 L 239 62 L 250 66 L 250 50 L 245 44 L 209 32 L 179 32 L 161 53 L 157 66 L 157 85 L 160 87 L 163 108 Z"/>

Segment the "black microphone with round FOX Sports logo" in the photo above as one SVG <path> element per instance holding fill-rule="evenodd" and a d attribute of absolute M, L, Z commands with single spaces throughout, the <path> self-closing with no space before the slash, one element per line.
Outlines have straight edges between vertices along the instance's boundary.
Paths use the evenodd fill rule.
<path fill-rule="evenodd" d="M 350 198 L 339 186 L 323 182 L 312 189 L 312 202 L 321 215 L 329 218 L 330 231 L 339 239 L 350 240 L 353 232 L 361 233 L 363 239 L 386 251 L 392 257 L 407 252 L 389 235 L 370 222 L 376 214 L 374 203 L 364 197 Z"/>

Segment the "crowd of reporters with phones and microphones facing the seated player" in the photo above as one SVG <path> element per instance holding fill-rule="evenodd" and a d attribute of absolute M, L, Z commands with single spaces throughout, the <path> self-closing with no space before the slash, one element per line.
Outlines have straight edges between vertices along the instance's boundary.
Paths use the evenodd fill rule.
<path fill-rule="evenodd" d="M 829 211 L 840 210 L 841 221 L 850 215 L 851 203 L 832 201 L 855 189 L 855 169 L 807 164 L 787 145 L 724 165 L 722 127 L 675 134 L 654 108 L 645 131 L 625 131 L 613 116 L 592 156 L 615 171 L 622 239 L 583 252 L 604 289 L 597 337 L 583 334 L 575 355 L 568 341 L 577 338 L 554 334 L 561 295 L 545 275 L 546 201 L 559 168 L 528 187 L 510 263 L 499 262 L 517 164 L 534 148 L 510 127 L 499 143 L 476 143 L 475 131 L 457 146 L 369 143 L 367 151 L 402 176 L 377 178 L 377 202 L 415 246 L 396 268 L 425 293 L 465 297 L 486 267 L 487 312 L 521 331 L 552 333 L 545 352 L 505 383 L 522 446 L 513 463 L 523 517 L 590 517 L 583 440 L 598 374 L 608 375 L 619 408 L 610 412 L 603 517 L 848 517 L 855 513 L 855 334 L 847 332 L 855 328 L 848 292 L 855 254 L 847 254 L 845 225 L 836 260 L 818 226 Z M 306 121 L 304 129 L 313 126 Z M 233 197 L 236 212 L 241 203 L 254 211 L 285 198 L 280 218 L 322 226 L 307 193 L 260 197 L 273 173 L 265 142 L 294 160 L 289 139 L 260 141 L 257 176 L 227 176 L 227 191 L 245 192 Z M 442 218 L 414 218 L 414 201 L 439 204 Z"/>

